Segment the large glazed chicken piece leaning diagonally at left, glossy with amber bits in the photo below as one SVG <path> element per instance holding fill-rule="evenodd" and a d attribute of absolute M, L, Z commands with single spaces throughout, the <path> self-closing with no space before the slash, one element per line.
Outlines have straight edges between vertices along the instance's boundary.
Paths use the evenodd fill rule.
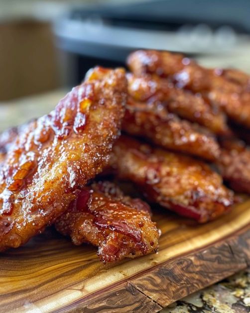
<path fill-rule="evenodd" d="M 107 164 L 126 103 L 123 69 L 94 70 L 48 115 L 22 127 L 0 168 L 0 251 L 18 247 L 68 208 Z"/>

